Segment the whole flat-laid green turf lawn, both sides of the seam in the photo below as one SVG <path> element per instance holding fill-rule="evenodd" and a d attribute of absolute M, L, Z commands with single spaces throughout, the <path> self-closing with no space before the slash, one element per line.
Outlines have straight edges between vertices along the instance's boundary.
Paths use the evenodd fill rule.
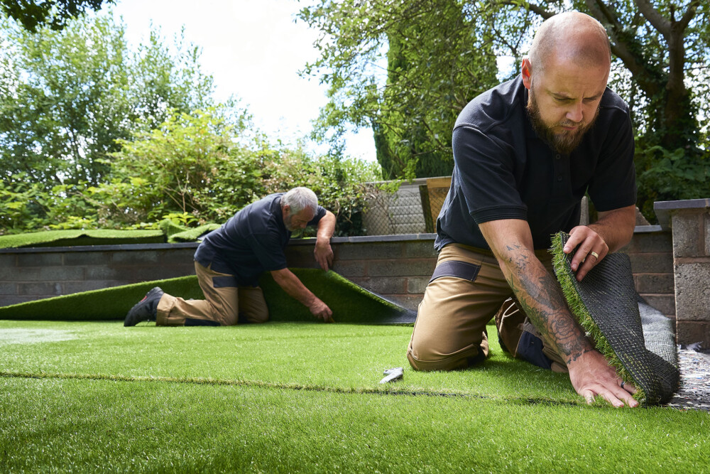
<path fill-rule="evenodd" d="M 496 338 L 479 367 L 414 372 L 411 330 L 0 321 L 0 470 L 707 468 L 706 412 L 586 406 L 566 375 L 511 359 Z M 404 379 L 378 384 L 389 367 Z"/>

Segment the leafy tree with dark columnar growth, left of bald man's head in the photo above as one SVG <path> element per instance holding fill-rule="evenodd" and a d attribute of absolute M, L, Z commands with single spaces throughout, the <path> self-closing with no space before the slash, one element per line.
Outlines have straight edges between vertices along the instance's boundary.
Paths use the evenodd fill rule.
<path fill-rule="evenodd" d="M 496 58 L 476 18 L 457 0 L 329 1 L 300 11 L 320 29 L 330 102 L 317 136 L 370 126 L 386 175 L 439 176 L 453 168 L 452 124 L 466 102 L 496 83 Z"/>

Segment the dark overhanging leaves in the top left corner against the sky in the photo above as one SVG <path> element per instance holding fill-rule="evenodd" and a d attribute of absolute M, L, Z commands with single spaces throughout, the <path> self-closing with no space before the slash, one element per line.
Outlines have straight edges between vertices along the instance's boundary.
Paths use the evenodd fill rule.
<path fill-rule="evenodd" d="M 61 30 L 70 18 L 77 18 L 87 9 L 98 11 L 104 2 L 112 4 L 114 0 L 0 0 L 0 9 L 35 33 L 38 26 Z"/>

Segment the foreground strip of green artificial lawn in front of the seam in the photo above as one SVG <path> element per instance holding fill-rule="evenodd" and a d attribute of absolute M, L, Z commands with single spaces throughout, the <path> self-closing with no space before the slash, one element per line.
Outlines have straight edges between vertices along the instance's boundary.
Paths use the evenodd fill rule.
<path fill-rule="evenodd" d="M 209 384 L 0 378 L 6 472 L 706 470 L 708 416 Z"/>

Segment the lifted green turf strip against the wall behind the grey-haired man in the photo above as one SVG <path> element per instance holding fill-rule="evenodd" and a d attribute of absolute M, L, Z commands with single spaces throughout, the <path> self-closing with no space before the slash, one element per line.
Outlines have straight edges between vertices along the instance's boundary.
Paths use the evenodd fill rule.
<path fill-rule="evenodd" d="M 292 269 L 298 278 L 333 311 L 336 322 L 380 323 L 402 308 L 374 296 L 334 271 Z M 271 274 L 265 273 L 260 284 L 273 321 L 313 321 L 314 316 L 288 296 Z M 123 320 L 131 307 L 153 288 L 182 298 L 204 298 L 197 276 L 146 281 L 0 307 L 0 319 L 52 321 Z"/>

